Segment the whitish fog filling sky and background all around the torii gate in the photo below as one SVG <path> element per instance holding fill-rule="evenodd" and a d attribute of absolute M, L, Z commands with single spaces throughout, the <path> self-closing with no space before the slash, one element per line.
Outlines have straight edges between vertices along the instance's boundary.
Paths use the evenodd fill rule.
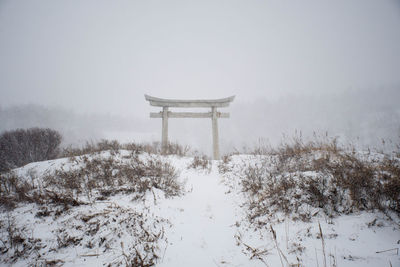
<path fill-rule="evenodd" d="M 0 130 L 158 141 L 144 94 L 236 95 L 223 151 L 314 132 L 400 138 L 399 1 L 0 1 Z M 171 141 L 210 153 L 208 119 Z"/>

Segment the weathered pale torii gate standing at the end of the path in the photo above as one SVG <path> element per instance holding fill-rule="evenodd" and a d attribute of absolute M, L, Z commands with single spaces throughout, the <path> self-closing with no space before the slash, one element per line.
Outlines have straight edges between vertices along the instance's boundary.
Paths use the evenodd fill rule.
<path fill-rule="evenodd" d="M 219 159 L 218 118 L 229 118 L 229 113 L 217 112 L 217 108 L 228 107 L 235 96 L 213 100 L 175 100 L 162 99 L 144 95 L 151 106 L 162 107 L 163 111 L 151 112 L 150 118 L 162 118 L 162 152 L 168 145 L 168 118 L 211 118 L 213 136 L 213 159 Z M 171 112 L 170 107 L 177 108 L 211 108 L 211 112 Z"/>

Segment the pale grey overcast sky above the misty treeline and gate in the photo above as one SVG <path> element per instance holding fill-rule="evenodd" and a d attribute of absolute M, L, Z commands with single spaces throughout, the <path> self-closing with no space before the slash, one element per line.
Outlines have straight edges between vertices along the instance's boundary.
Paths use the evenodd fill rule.
<path fill-rule="evenodd" d="M 379 88 L 400 90 L 399 0 L 0 0 L 2 107 L 149 120 L 144 94 L 243 110 Z"/>

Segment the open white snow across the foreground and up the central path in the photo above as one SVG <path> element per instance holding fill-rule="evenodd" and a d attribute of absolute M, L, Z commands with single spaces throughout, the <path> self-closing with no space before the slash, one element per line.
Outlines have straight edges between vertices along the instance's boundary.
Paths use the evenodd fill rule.
<path fill-rule="evenodd" d="M 135 232 L 121 225 L 132 224 L 130 216 L 140 214 L 146 229 L 162 234 L 156 266 L 400 266 L 400 221 L 396 216 L 389 220 L 379 212 L 361 212 L 327 219 L 317 214 L 311 222 L 293 222 L 278 215 L 279 222 L 254 231 L 241 207 L 240 188 L 232 186 L 235 183 L 227 182 L 218 172 L 218 162 L 213 162 L 209 172 L 187 169 L 191 158 L 170 156 L 168 160 L 180 171 L 179 180 L 185 183 L 182 196 L 165 198 L 163 192 L 155 189 L 143 201 L 132 201 L 129 195 L 119 194 L 106 201 L 74 207 L 61 216 L 38 217 L 40 210 L 36 204 L 2 212 L 1 238 L 7 237 L 7 223 L 11 220 L 17 229 L 22 229 L 22 234 L 40 240 L 37 253 L 42 255 L 32 254 L 11 263 L 7 259 L 11 252 L 3 250 L 0 264 L 40 265 L 51 260 L 60 266 L 124 264 L 129 253 L 127 244 L 132 242 L 126 231 L 133 231 L 129 232 L 131 235 Z M 66 162 L 59 159 L 32 163 L 18 173 L 24 175 L 35 169 L 40 177 L 47 169 Z M 271 226 L 276 231 L 277 243 Z M 88 235 L 91 231 L 94 234 Z M 60 247 L 64 233 L 82 240 L 77 245 Z M 107 249 L 101 246 L 104 236 L 112 240 Z"/>

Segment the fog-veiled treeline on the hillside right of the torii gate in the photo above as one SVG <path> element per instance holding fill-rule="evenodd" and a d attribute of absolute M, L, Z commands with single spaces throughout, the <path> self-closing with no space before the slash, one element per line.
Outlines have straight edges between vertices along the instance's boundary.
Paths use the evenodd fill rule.
<path fill-rule="evenodd" d="M 232 120 L 240 123 L 221 122 L 235 133 L 235 139 L 246 136 L 253 143 L 263 137 L 271 145 L 279 145 L 284 135 L 290 137 L 296 131 L 310 140 L 315 132 L 328 132 L 361 149 L 380 147 L 384 141 L 391 150 L 390 142 L 397 144 L 400 137 L 398 99 L 400 88 L 299 94 L 278 100 L 264 97 L 233 105 Z M 240 143 L 237 145 L 240 148 Z"/>

